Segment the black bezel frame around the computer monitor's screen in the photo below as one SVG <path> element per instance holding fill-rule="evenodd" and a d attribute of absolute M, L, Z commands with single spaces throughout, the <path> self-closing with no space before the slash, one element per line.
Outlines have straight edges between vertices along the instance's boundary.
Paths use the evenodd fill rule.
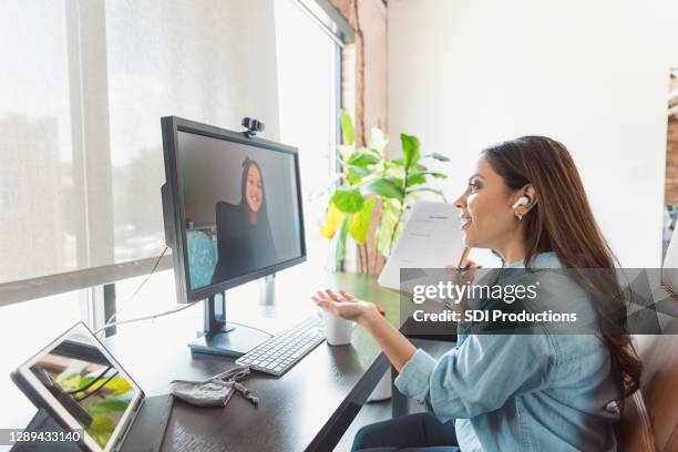
<path fill-rule="evenodd" d="M 165 116 L 161 119 L 163 130 L 163 152 L 165 157 L 165 181 L 170 185 L 170 199 L 166 202 L 166 207 L 171 212 L 165 215 L 165 235 L 172 237 L 173 244 L 167 244 L 173 248 L 174 276 L 177 291 L 177 302 L 192 302 L 206 299 L 212 295 L 223 292 L 224 290 L 244 285 L 258 278 L 273 275 L 277 271 L 301 264 L 307 259 L 306 253 L 306 235 L 304 228 L 304 209 L 301 197 L 301 178 L 299 173 L 299 152 L 296 147 L 288 146 L 281 143 L 276 143 L 258 137 L 247 137 L 244 133 L 229 131 L 226 129 L 216 127 L 208 124 L 198 123 L 195 121 L 185 120 L 177 116 Z M 297 206 L 299 212 L 299 240 L 301 245 L 301 254 L 288 260 L 277 263 L 275 265 L 250 271 L 246 275 L 232 278 L 229 280 L 203 286 L 196 289 L 191 288 L 191 275 L 188 271 L 186 244 L 186 224 L 184 209 L 184 187 L 182 177 L 182 163 L 177 158 L 178 148 L 178 132 L 203 135 L 216 140 L 223 140 L 232 143 L 255 146 L 275 152 L 290 154 L 295 161 L 295 178 L 297 183 Z M 167 222 L 172 224 L 168 225 Z"/>

